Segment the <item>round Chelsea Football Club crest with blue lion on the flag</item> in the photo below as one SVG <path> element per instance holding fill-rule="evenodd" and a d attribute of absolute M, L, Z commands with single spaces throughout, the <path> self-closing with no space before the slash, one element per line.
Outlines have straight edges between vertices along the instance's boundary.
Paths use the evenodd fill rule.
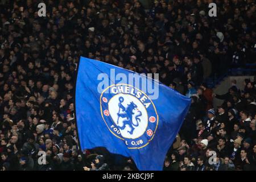
<path fill-rule="evenodd" d="M 129 149 L 147 146 L 154 138 L 158 113 L 141 90 L 127 84 L 110 85 L 101 93 L 100 105 L 109 131 Z"/>

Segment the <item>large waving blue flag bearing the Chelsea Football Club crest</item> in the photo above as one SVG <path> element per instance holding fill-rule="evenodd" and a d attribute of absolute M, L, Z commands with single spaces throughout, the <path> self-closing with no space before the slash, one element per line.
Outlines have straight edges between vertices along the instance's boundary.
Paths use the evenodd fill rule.
<path fill-rule="evenodd" d="M 106 147 L 133 158 L 139 170 L 162 170 L 190 104 L 150 76 L 80 58 L 75 113 L 81 150 Z"/>

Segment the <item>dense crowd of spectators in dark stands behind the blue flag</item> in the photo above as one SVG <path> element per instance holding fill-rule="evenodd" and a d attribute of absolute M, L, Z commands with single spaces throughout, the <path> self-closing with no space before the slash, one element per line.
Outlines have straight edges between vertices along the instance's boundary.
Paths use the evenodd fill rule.
<path fill-rule="evenodd" d="M 210 2 L 216 17 L 208 15 Z M 255 63 L 253 0 L 161 0 L 148 9 L 137 0 L 48 0 L 46 17 L 38 3 L 0 0 L 1 170 L 136 169 L 104 148 L 79 150 L 73 98 L 80 56 L 159 73 L 191 98 L 164 170 L 255 169 L 255 80 L 245 88 L 234 80 L 224 95 L 206 84 Z M 213 97 L 224 100 L 216 110 Z"/>

